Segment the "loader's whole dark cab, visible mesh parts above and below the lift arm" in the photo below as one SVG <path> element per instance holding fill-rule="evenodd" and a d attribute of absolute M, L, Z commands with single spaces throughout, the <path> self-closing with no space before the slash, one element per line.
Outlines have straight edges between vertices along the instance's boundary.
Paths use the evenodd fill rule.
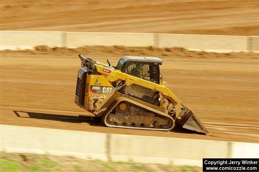
<path fill-rule="evenodd" d="M 163 61 L 156 57 L 123 56 L 115 67 L 121 72 L 156 84 L 162 83 L 159 65 Z M 122 93 L 144 100 L 151 104 L 158 103 L 159 92 L 144 86 L 131 84 L 120 90 Z"/>

